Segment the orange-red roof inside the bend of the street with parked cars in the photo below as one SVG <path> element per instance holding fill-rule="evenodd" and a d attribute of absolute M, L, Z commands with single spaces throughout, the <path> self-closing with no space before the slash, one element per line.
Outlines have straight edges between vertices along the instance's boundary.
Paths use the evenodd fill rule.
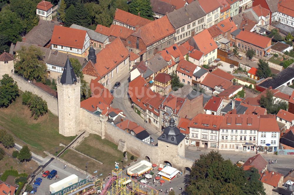
<path fill-rule="evenodd" d="M 155 93 L 149 88 L 146 80 L 141 76 L 138 76 L 129 83 L 128 94 L 132 101 L 143 110 L 146 110 L 145 105 L 147 105 L 147 102 L 155 97 Z"/>

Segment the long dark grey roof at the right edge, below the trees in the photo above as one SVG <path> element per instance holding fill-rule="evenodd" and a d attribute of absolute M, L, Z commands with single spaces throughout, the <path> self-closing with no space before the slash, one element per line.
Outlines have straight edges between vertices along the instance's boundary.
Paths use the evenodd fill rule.
<path fill-rule="evenodd" d="M 280 73 L 276 74 L 275 78 L 271 78 L 268 80 L 263 81 L 258 86 L 269 88 L 272 86 L 273 89 L 278 88 L 280 85 L 283 85 L 287 81 L 294 78 L 294 68 L 288 67 L 282 70 Z"/>

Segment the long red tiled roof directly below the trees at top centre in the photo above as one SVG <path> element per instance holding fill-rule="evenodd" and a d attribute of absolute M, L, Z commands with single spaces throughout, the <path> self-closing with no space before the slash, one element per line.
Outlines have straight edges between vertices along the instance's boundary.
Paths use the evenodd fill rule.
<path fill-rule="evenodd" d="M 136 16 L 129 12 L 123 11 L 121 9 L 117 9 L 115 11 L 114 20 L 120 21 L 121 23 L 127 24 L 129 26 L 133 26 L 135 28 L 144 26 L 151 22 L 151 20 L 142 18 L 140 16 Z"/>

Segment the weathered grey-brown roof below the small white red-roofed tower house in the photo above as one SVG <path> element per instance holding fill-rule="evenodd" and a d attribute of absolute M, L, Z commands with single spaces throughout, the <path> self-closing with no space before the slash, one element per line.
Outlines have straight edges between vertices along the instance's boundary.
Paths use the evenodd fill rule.
<path fill-rule="evenodd" d="M 55 25 L 59 25 L 59 22 L 40 20 L 38 26 L 31 29 L 22 41 L 44 47 L 50 42 Z"/>

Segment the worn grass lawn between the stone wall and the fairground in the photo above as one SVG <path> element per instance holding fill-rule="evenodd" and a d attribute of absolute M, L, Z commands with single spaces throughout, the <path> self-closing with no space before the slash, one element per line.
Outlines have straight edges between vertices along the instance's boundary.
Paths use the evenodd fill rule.
<path fill-rule="evenodd" d="M 118 162 L 119 166 L 122 167 L 121 161 L 123 159 L 123 152 L 117 149 L 116 144 L 106 139 L 101 139 L 101 137 L 98 135 L 90 134 L 89 137 L 86 137 L 76 149 L 85 154 L 95 157 L 103 164 L 99 164 L 98 162 L 69 149 L 66 150 L 65 154 L 61 155 L 61 158 L 64 160 L 70 160 L 69 162 L 83 170 L 85 169 L 86 161 L 88 161 L 89 172 L 94 172 L 97 170 L 98 174 L 102 172 L 103 175 L 108 174 L 109 172 L 111 172 L 112 169 L 114 169 L 115 162 Z M 123 162 L 124 166 L 131 162 L 131 156 L 132 154 L 128 153 L 128 161 Z M 135 157 L 134 159 L 136 158 L 137 157 Z M 93 172 L 91 174 L 93 174 Z"/>

